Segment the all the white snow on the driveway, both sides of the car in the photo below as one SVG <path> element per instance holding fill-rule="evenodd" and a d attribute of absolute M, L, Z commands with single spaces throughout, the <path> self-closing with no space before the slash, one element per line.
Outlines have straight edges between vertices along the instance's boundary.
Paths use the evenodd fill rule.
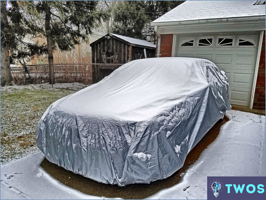
<path fill-rule="evenodd" d="M 179 184 L 150 199 L 207 199 L 207 176 L 265 176 L 265 116 L 236 110 L 226 115 L 229 121 Z M 103 199 L 61 184 L 39 166 L 43 158 L 36 151 L 1 165 L 1 199 Z"/>

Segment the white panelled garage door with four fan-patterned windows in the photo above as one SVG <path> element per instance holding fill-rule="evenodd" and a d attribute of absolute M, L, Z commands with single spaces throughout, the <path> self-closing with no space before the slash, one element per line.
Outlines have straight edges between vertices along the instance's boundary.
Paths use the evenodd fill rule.
<path fill-rule="evenodd" d="M 231 104 L 250 105 L 259 33 L 178 35 L 177 57 L 204 58 L 225 71 Z"/>

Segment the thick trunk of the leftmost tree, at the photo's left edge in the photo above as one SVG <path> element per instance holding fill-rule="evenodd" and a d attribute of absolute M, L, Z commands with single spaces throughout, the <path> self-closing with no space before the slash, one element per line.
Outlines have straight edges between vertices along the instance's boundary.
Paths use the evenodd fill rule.
<path fill-rule="evenodd" d="M 1 25 L 8 24 L 6 15 L 6 1 L 1 1 Z M 4 40 L 8 38 L 4 37 Z M 9 49 L 1 41 L 1 86 L 11 85 L 12 75 L 10 69 Z"/>

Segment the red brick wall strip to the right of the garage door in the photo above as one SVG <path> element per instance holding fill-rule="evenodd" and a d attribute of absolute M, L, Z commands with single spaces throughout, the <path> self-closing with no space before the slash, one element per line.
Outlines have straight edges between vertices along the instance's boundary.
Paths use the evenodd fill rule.
<path fill-rule="evenodd" d="M 252 108 L 265 109 L 265 31 L 260 53 L 260 64 Z"/>

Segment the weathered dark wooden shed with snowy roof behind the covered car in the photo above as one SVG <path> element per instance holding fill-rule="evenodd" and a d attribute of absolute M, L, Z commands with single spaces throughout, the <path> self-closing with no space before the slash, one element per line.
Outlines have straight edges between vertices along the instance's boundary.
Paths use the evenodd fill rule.
<path fill-rule="evenodd" d="M 107 34 L 90 44 L 92 82 L 97 83 L 121 65 L 136 59 L 155 57 L 156 45 L 145 40 Z"/>

